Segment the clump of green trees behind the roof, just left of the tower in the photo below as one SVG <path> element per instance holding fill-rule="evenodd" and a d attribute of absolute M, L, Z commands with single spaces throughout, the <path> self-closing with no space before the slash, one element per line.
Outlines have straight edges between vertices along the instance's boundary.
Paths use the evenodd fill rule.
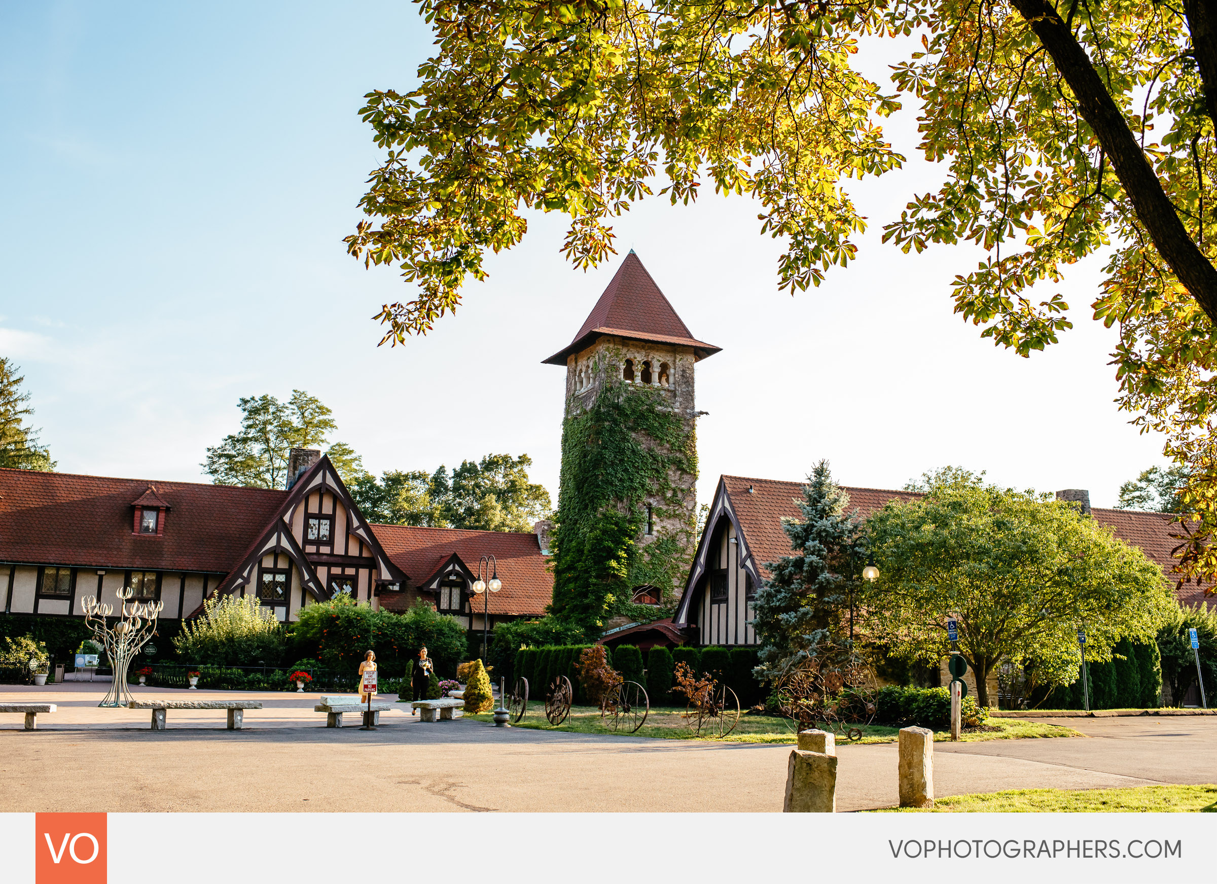
<path fill-rule="evenodd" d="M 371 521 L 478 531 L 532 531 L 549 515 L 549 492 L 528 481 L 532 458 L 487 454 L 465 460 L 452 474 L 391 470 L 377 481 L 364 475 L 350 496 Z"/>

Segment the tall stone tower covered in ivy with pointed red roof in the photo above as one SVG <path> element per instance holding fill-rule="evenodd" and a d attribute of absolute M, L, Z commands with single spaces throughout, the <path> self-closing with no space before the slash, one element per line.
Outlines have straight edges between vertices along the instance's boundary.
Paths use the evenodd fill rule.
<path fill-rule="evenodd" d="M 696 542 L 699 341 L 630 250 L 566 367 L 554 606 L 593 633 L 639 602 L 673 604 Z"/>

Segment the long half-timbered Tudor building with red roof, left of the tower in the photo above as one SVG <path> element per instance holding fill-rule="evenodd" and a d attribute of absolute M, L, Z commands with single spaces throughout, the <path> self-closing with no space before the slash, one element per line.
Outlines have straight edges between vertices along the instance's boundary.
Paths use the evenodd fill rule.
<path fill-rule="evenodd" d="M 284 491 L 0 470 L 6 614 L 83 616 L 86 595 L 117 610 L 130 587 L 162 602 L 164 619 L 253 594 L 291 621 L 341 593 L 391 610 L 427 599 L 481 630 L 470 597 L 482 555 L 503 581 L 492 628 L 544 612 L 553 578 L 537 535 L 371 525 L 316 451 L 293 449 Z"/>

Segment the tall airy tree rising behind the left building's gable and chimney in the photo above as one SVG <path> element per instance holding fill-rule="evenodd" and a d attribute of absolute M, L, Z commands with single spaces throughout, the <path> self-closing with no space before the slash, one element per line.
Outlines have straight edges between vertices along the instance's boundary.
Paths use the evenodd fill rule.
<path fill-rule="evenodd" d="M 292 448 L 325 448 L 337 430 L 333 413 L 315 396 L 293 390 L 292 398 L 274 396 L 237 399 L 241 430 L 207 449 L 203 471 L 215 485 L 243 485 L 251 488 L 282 488 Z M 325 451 L 342 481 L 350 485 L 366 475 L 363 460 L 344 442 Z"/>

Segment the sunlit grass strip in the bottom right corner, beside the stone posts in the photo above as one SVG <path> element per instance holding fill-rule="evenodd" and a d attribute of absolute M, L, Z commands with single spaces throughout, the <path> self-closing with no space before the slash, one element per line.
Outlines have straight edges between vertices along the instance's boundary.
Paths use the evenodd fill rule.
<path fill-rule="evenodd" d="M 1189 813 L 1217 812 L 1217 785 L 1137 785 L 1128 789 L 1010 789 L 940 798 L 933 807 L 877 813 Z"/>

